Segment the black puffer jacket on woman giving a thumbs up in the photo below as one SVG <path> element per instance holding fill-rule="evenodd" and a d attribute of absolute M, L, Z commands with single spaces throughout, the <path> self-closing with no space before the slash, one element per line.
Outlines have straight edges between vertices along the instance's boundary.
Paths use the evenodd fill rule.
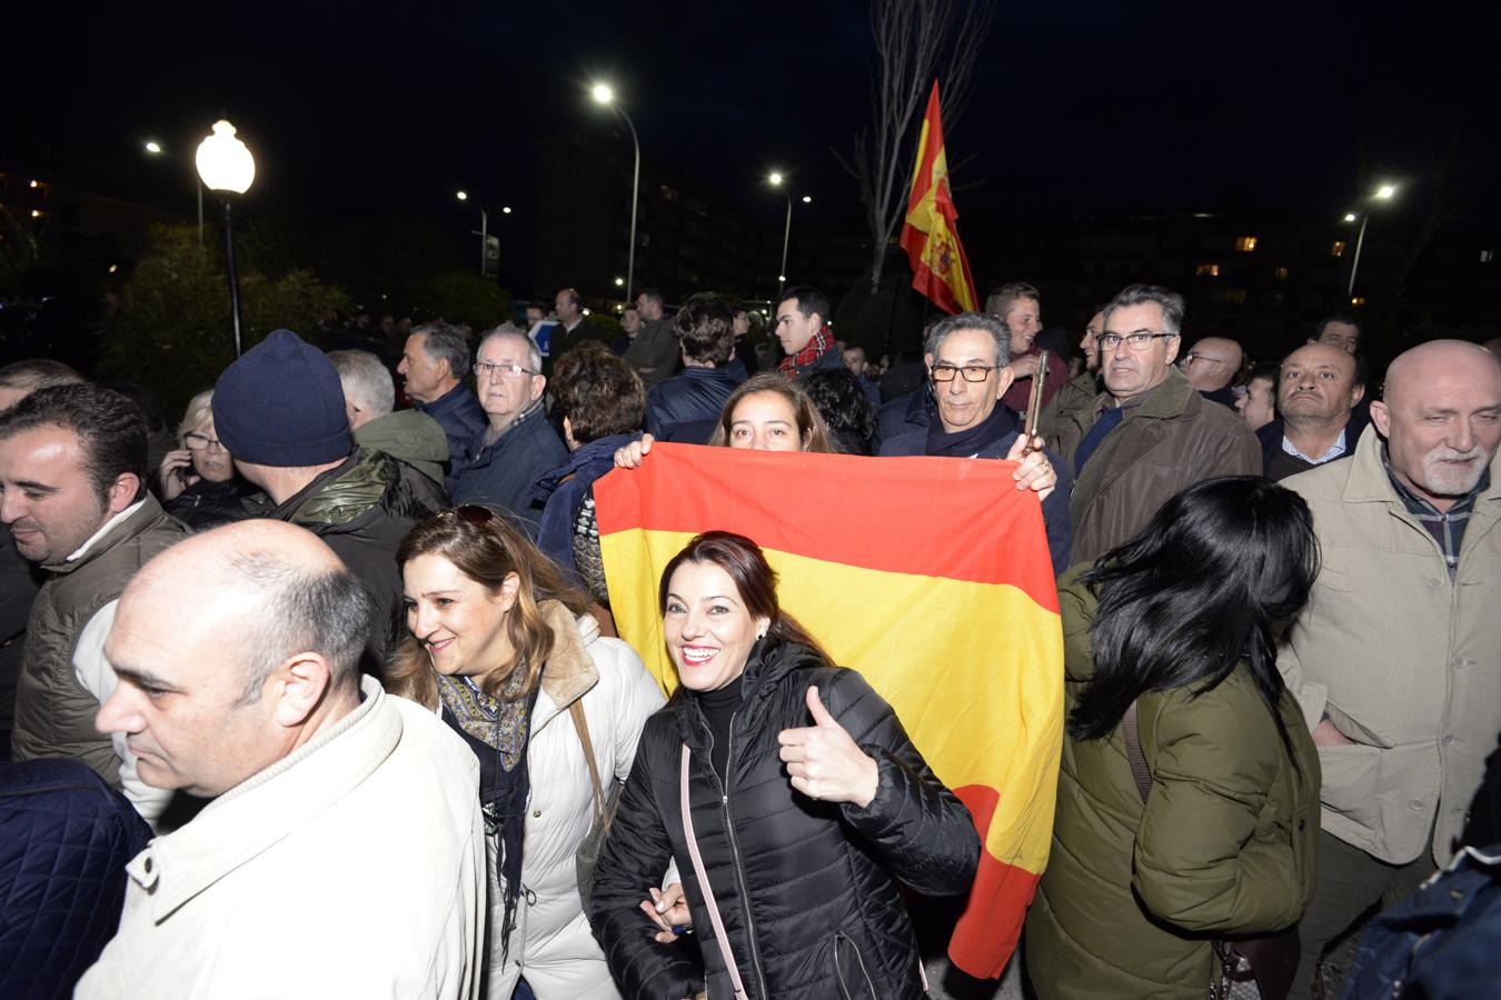
<path fill-rule="evenodd" d="M 868 808 L 817 802 L 788 783 L 776 738 L 812 724 L 805 699 L 814 684 L 880 765 Z M 722 792 L 696 697 L 680 690 L 647 720 L 590 915 L 621 993 L 675 1000 L 702 988 L 696 966 L 675 945 L 657 945 L 656 927 L 639 910 L 644 888 L 657 883 L 671 858 L 693 913 L 708 996 L 731 996 L 683 837 L 678 768 L 686 742 L 693 831 L 749 996 L 922 997 L 917 942 L 898 880 L 931 895 L 965 892 L 980 853 L 968 810 L 938 783 L 865 678 L 823 666 L 803 646 L 763 640 L 752 651 L 729 741 L 731 780 Z"/>

